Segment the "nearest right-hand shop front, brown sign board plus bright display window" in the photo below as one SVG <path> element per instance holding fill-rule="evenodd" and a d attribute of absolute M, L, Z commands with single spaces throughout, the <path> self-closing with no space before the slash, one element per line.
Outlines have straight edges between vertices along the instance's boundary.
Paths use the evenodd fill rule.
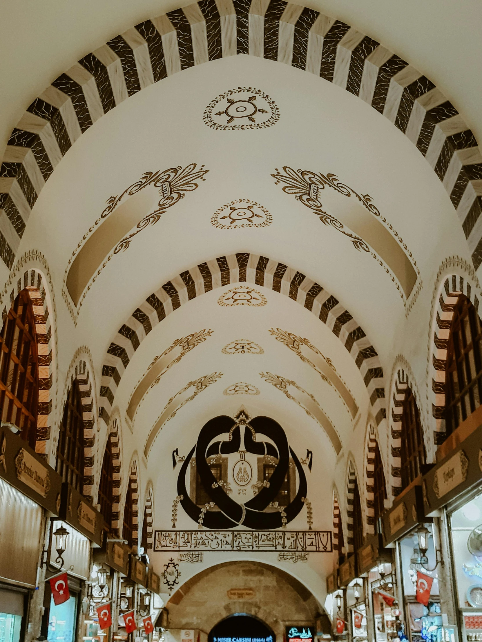
<path fill-rule="evenodd" d="M 482 640 L 481 445 L 482 426 L 439 461 L 423 480 L 425 512 L 442 517 L 441 523 L 447 528 L 456 616 L 464 642 Z"/>

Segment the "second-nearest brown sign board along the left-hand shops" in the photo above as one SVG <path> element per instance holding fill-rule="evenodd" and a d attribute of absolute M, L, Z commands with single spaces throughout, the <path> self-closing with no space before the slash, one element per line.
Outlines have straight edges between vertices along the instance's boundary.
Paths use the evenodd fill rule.
<path fill-rule="evenodd" d="M 59 517 L 97 546 L 103 542 L 103 517 L 69 483 L 62 484 Z"/>

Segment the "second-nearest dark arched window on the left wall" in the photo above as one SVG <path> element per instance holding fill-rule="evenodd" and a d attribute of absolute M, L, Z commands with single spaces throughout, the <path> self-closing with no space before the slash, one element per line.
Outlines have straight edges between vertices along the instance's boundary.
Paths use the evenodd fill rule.
<path fill-rule="evenodd" d="M 78 492 L 84 485 L 84 411 L 77 381 L 69 390 L 57 444 L 57 473 Z"/>

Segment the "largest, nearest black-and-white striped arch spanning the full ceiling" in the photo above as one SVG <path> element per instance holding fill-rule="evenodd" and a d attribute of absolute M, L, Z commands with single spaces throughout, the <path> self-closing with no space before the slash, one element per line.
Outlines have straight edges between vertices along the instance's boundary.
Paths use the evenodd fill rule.
<path fill-rule="evenodd" d="M 26 221 L 53 169 L 80 136 L 121 102 L 166 76 L 233 55 L 292 65 L 332 82 L 388 118 L 434 169 L 457 210 L 472 261 L 482 262 L 482 155 L 442 92 L 406 61 L 348 24 L 282 0 L 201 0 L 140 22 L 87 53 L 13 129 L 0 170 L 11 268 Z"/>

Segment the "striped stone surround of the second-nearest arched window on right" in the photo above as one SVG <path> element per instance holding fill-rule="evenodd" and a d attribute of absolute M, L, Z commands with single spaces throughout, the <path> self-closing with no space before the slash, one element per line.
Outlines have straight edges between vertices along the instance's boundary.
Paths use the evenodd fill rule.
<path fill-rule="evenodd" d="M 420 412 L 421 397 L 416 385 L 415 376 L 408 361 L 401 355 L 395 359 L 393 367 L 393 375 L 390 387 L 389 397 L 389 480 L 391 489 L 391 500 L 395 499 L 402 490 L 402 477 L 400 474 L 400 447 L 402 437 L 402 410 L 405 401 L 407 390 L 410 389 Z M 429 461 L 431 448 L 431 440 L 429 433 L 424 427 L 424 417 L 420 412 L 420 422 L 422 424 L 422 431 L 424 435 L 425 452 L 427 454 L 427 461 Z M 388 493 L 387 493 L 388 494 Z"/>

